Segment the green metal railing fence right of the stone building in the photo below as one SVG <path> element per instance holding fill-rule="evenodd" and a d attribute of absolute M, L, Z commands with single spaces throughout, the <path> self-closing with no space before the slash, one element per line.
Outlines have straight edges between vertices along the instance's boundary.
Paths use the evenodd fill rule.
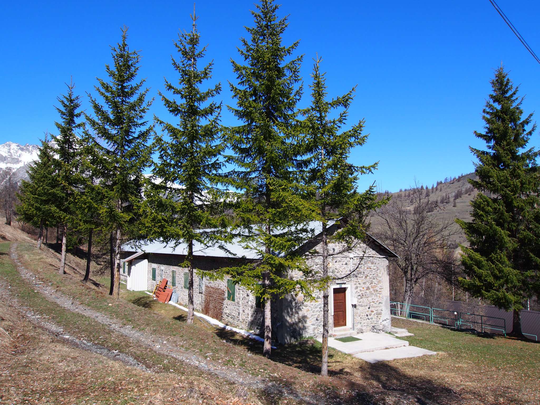
<path fill-rule="evenodd" d="M 469 303 L 461 301 L 443 302 L 441 300 L 437 307 L 420 305 L 417 300 L 413 300 L 408 305 L 403 302 L 390 301 L 390 314 L 455 328 L 498 333 L 505 336 L 507 333 L 512 332 L 507 327 L 512 325 L 513 314 L 511 312 L 488 305 L 469 305 Z M 521 320 L 523 334 L 531 340 L 538 341 L 540 335 L 540 312 L 522 311 Z"/>

